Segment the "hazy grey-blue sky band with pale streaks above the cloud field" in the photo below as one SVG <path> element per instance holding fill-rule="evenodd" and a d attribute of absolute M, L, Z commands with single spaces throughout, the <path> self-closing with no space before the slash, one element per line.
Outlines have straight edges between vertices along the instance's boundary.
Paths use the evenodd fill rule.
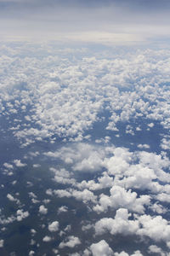
<path fill-rule="evenodd" d="M 0 0 L 2 40 L 168 42 L 168 0 Z"/>

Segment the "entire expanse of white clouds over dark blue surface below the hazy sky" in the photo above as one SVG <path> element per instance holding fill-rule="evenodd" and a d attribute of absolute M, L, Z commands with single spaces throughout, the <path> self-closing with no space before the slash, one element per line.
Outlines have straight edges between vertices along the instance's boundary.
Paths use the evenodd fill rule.
<path fill-rule="evenodd" d="M 169 255 L 170 51 L 3 44 L 0 61 L 0 250 Z"/>

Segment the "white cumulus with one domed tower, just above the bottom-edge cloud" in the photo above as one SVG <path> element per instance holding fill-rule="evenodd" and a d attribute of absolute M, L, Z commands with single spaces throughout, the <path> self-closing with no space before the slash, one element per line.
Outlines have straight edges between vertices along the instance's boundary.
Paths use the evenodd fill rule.
<path fill-rule="evenodd" d="M 95 233 L 102 235 L 110 232 L 111 235 L 122 234 L 123 236 L 135 234 L 139 230 L 138 220 L 129 220 L 127 209 L 120 208 L 116 211 L 115 218 L 101 218 L 94 226 Z"/>

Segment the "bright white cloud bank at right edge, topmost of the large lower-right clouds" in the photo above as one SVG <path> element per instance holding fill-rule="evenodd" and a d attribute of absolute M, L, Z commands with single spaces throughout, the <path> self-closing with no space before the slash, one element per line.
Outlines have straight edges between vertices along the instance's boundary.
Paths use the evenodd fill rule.
<path fill-rule="evenodd" d="M 135 177 L 137 172 L 143 178 L 148 177 L 149 181 L 156 176 L 161 181 L 170 180 L 169 174 L 163 171 L 169 167 L 170 160 L 167 156 L 146 151 L 129 152 L 127 148 L 115 148 L 113 154 L 105 159 L 105 167 L 112 175 L 130 176 L 132 174 Z M 134 165 L 136 162 L 139 162 L 139 165 Z"/>

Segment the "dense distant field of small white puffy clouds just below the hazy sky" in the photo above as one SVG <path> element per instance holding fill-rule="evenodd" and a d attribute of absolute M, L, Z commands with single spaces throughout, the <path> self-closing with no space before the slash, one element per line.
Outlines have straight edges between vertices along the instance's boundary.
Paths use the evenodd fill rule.
<path fill-rule="evenodd" d="M 62 58 L 59 49 L 45 45 L 41 60 L 33 45 L 31 49 L 29 46 L 28 58 L 26 47 L 15 49 L 22 52 L 20 56 L 2 48 L 1 59 L 8 73 L 7 78 L 2 71 L 1 113 L 19 109 L 25 113 L 28 107 L 33 108 L 26 113 L 27 125 L 14 130 L 23 146 L 54 134 L 81 141 L 84 131 L 99 120 L 105 109 L 111 113 L 108 130 L 117 131 L 119 121 L 128 122 L 131 118 L 142 118 L 149 126 L 156 120 L 169 127 L 168 50 L 139 50 L 119 58 L 111 54 L 83 57 L 83 49 L 77 49 L 82 55 L 71 61 L 70 55 Z M 68 54 L 68 49 L 63 51 Z"/>

